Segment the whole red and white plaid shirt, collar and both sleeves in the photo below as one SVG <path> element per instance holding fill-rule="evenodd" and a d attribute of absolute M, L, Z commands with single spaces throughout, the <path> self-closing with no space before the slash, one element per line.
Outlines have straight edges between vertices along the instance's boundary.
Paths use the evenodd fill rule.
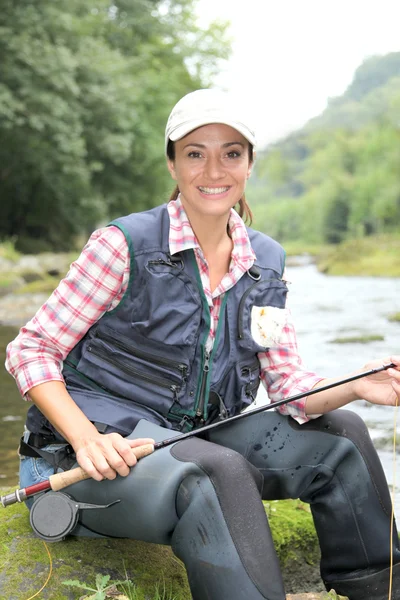
<path fill-rule="evenodd" d="M 232 209 L 229 229 L 233 251 L 229 272 L 212 292 L 207 261 L 179 198 L 169 202 L 168 213 L 171 254 L 193 249 L 196 256 L 210 308 L 207 347 L 211 349 L 223 296 L 253 265 L 255 254 L 242 219 Z M 22 396 L 29 399 L 30 388 L 38 384 L 63 381 L 63 360 L 88 329 L 119 304 L 127 289 L 129 268 L 130 256 L 123 233 L 113 226 L 96 230 L 66 277 L 7 347 L 6 369 L 15 378 Z M 270 401 L 305 392 L 322 379 L 304 368 L 290 317 L 279 346 L 259 353 L 258 358 L 261 380 Z M 302 399 L 278 410 L 304 423 L 309 419 L 304 406 Z"/>

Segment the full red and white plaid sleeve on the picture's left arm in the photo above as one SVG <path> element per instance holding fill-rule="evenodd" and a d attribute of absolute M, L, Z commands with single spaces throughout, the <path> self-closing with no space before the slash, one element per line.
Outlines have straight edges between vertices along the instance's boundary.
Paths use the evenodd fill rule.
<path fill-rule="evenodd" d="M 117 227 L 95 231 L 79 258 L 7 346 L 6 369 L 22 396 L 48 381 L 63 381 L 63 360 L 88 329 L 124 295 L 130 256 Z"/>

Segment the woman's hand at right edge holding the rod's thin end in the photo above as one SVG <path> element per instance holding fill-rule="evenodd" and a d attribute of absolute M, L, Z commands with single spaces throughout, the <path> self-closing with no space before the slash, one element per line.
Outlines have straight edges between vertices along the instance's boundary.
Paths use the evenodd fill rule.
<path fill-rule="evenodd" d="M 390 356 L 382 360 L 374 360 L 365 365 L 365 370 L 376 369 L 394 363 L 396 368 L 374 373 L 354 382 L 358 398 L 372 404 L 395 406 L 400 404 L 400 356 Z"/>

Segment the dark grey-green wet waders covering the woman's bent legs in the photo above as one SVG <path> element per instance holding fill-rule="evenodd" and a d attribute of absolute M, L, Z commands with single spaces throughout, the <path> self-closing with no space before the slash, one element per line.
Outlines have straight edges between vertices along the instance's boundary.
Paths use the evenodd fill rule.
<path fill-rule="evenodd" d="M 171 437 L 141 421 L 130 437 Z M 337 410 L 305 425 L 264 412 L 161 449 L 127 477 L 66 488 L 82 510 L 74 535 L 168 544 L 185 564 L 194 600 L 284 600 L 261 499 L 311 507 L 327 589 L 387 600 L 391 501 L 362 420 Z M 107 515 L 107 518 L 105 517 Z M 400 562 L 397 532 L 393 560 Z M 400 600 L 395 568 L 394 600 Z"/>

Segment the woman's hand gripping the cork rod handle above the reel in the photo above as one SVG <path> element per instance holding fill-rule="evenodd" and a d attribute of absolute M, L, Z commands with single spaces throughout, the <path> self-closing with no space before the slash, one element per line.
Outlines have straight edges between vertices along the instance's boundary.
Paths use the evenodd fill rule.
<path fill-rule="evenodd" d="M 95 433 L 74 441 L 76 460 L 80 467 L 96 481 L 126 477 L 137 463 L 133 448 L 154 445 L 151 438 L 131 440 L 119 433 Z"/>

